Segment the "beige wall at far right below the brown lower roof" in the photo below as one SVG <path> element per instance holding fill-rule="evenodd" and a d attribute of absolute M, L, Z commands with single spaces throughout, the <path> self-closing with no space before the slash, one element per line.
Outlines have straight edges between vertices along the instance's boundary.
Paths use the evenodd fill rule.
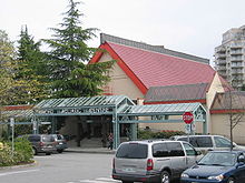
<path fill-rule="evenodd" d="M 245 144 L 245 116 L 243 122 L 238 123 L 233 130 L 234 142 Z M 229 139 L 229 115 L 228 114 L 212 114 L 212 134 L 220 134 Z"/>

